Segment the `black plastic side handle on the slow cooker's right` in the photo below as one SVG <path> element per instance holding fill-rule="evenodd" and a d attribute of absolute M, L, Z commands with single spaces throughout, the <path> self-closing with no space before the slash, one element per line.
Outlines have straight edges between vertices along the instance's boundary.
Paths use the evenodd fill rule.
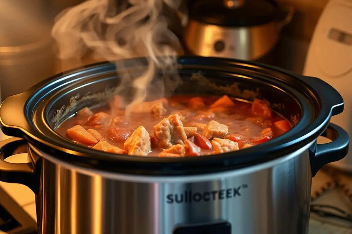
<path fill-rule="evenodd" d="M 321 167 L 330 162 L 343 159 L 348 153 L 350 138 L 343 128 L 333 123 L 329 123 L 327 129 L 321 134 L 321 136 L 332 140 L 332 142 L 316 145 L 315 155 L 311 159 L 313 177 Z"/>

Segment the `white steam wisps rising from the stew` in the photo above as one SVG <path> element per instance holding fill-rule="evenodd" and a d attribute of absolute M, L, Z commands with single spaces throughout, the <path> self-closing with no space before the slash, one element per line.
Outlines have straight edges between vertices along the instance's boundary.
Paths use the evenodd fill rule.
<path fill-rule="evenodd" d="M 176 57 L 180 44 L 168 29 L 168 18 L 162 9 L 168 7 L 177 12 L 182 24 L 186 24 L 187 16 L 179 11 L 180 3 L 180 0 L 87 0 L 66 9 L 56 17 L 51 32 L 57 42 L 57 56 L 62 60 L 80 59 L 87 49 L 112 62 L 147 55 L 148 66 L 137 78 L 132 78 L 123 63 L 116 62 L 121 78 L 116 93 L 127 87 L 136 91 L 126 107 L 129 115 L 133 106 L 151 93 L 158 93 L 161 98 L 165 90 L 173 92 L 178 85 Z M 152 85 L 156 69 L 162 71 L 163 79 Z"/>

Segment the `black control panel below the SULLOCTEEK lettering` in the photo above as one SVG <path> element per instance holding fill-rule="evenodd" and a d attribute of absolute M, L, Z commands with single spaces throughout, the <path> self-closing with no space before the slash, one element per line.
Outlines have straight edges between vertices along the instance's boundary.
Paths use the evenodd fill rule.
<path fill-rule="evenodd" d="M 192 226 L 178 226 L 173 234 L 231 234 L 229 222 L 218 222 Z"/>

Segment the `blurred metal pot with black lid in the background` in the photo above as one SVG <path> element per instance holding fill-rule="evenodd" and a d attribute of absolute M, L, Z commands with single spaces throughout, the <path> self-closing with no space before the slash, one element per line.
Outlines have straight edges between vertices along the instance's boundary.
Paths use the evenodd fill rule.
<path fill-rule="evenodd" d="M 195 55 L 258 60 L 293 16 L 273 0 L 193 0 L 184 40 Z"/>

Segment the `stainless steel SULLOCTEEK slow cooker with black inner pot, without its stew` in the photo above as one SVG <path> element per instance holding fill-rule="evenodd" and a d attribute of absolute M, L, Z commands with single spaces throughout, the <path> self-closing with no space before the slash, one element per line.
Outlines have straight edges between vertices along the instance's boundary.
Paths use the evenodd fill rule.
<path fill-rule="evenodd" d="M 139 74 L 144 66 L 134 61 L 121 63 Z M 256 96 L 295 126 L 261 145 L 204 157 L 94 151 L 54 128 L 78 109 L 108 100 L 119 81 L 115 66 L 59 74 L 0 107 L 2 130 L 19 137 L 0 143 L 0 180 L 36 193 L 39 233 L 308 233 L 312 175 L 348 150 L 347 133 L 329 123 L 343 111 L 339 93 L 318 78 L 257 63 L 206 57 L 179 63 L 182 84 L 175 92 Z M 332 142 L 317 145 L 321 134 Z M 29 163 L 3 161 L 20 152 L 28 152 Z"/>

